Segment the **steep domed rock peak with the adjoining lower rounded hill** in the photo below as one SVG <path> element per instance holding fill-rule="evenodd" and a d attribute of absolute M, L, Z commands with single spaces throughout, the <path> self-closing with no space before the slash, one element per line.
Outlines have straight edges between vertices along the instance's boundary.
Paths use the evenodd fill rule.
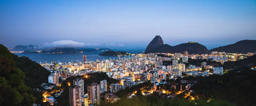
<path fill-rule="evenodd" d="M 209 53 L 204 45 L 197 42 L 182 43 L 175 46 L 163 44 L 160 35 L 156 35 L 156 37 L 148 44 L 145 53 L 184 53 L 185 51 L 189 54 Z"/>

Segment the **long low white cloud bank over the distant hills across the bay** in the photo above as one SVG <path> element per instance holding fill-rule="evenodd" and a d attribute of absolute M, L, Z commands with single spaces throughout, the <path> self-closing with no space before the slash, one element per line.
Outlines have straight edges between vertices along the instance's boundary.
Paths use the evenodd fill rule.
<path fill-rule="evenodd" d="M 100 43 L 79 43 L 73 40 L 58 40 L 52 43 L 44 43 L 38 49 L 53 49 L 53 48 L 120 48 L 124 47 L 123 44 L 100 44 Z"/>

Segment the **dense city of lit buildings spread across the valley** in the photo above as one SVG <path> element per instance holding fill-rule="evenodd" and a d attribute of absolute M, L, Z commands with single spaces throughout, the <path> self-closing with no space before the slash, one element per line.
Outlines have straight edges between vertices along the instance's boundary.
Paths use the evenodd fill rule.
<path fill-rule="evenodd" d="M 223 75 L 229 70 L 223 70 L 223 67 L 210 65 L 207 62 L 200 63 L 200 66 L 195 66 L 188 63 L 189 59 L 216 61 L 223 64 L 227 61 L 239 61 L 255 53 L 236 54 L 225 52 L 211 52 L 211 54 L 192 54 L 184 53 L 158 53 L 158 54 L 132 54 L 130 57 L 119 59 L 107 59 L 87 61 L 86 55 L 81 57 L 83 61 L 78 63 L 63 63 L 52 61 L 51 63 L 42 63 L 41 66 L 46 68 L 51 74 L 48 76 L 49 83 L 43 83 L 44 87 L 44 102 L 49 102 L 51 105 L 56 103 L 54 97 L 58 97 L 63 92 L 55 90 L 48 92 L 49 89 L 61 86 L 60 81 L 65 81 L 69 77 L 77 77 L 72 82 L 67 82 L 69 86 L 69 102 L 70 106 L 87 106 L 101 102 L 114 103 L 120 98 L 115 96 L 120 90 L 137 86 L 140 83 L 150 82 L 153 84 L 149 90 L 141 88 L 143 96 L 151 95 L 151 93 L 165 93 L 167 98 L 175 98 L 182 92 L 187 92 L 184 98 L 189 96 L 190 100 L 198 99 L 197 96 L 190 96 L 191 89 L 195 82 L 189 80 L 180 80 L 179 83 L 169 83 L 169 80 L 176 80 L 178 77 L 184 78 L 188 76 L 209 76 L 212 74 Z M 166 61 L 171 63 L 165 64 Z M 187 66 L 188 65 L 188 66 Z M 255 68 L 252 67 L 255 70 Z M 105 73 L 108 77 L 117 79 L 119 83 L 110 83 L 106 80 L 100 83 L 89 83 L 84 85 L 84 78 L 90 77 L 89 73 Z M 82 78 L 81 78 L 82 77 Z M 178 91 L 165 91 L 164 89 L 157 89 L 159 84 L 172 85 L 171 88 L 178 88 Z M 87 89 L 84 89 L 87 86 Z M 170 89 L 171 90 L 171 89 Z M 85 91 L 87 93 L 85 93 Z M 128 98 L 136 95 L 131 92 Z M 104 101 L 101 99 L 104 97 Z"/>

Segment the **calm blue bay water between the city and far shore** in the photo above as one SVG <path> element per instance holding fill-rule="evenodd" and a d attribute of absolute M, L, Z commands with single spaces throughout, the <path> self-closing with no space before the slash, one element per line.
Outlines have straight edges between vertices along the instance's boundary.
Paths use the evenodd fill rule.
<path fill-rule="evenodd" d="M 124 50 L 128 53 L 142 53 L 143 50 Z M 83 55 L 86 55 L 87 61 L 96 61 L 104 60 L 109 58 L 118 58 L 118 56 L 99 56 L 100 53 L 104 51 L 97 52 L 84 52 L 84 53 L 73 53 L 73 54 L 47 54 L 47 53 L 39 53 L 39 54 L 21 54 L 14 53 L 18 56 L 26 56 L 30 58 L 32 61 L 36 61 L 37 63 L 50 63 L 51 61 L 61 61 L 61 62 L 71 62 L 71 61 L 82 61 Z M 124 57 L 124 56 L 123 56 Z M 122 58 L 122 57 L 121 57 Z M 129 57 L 126 57 L 129 58 Z"/>

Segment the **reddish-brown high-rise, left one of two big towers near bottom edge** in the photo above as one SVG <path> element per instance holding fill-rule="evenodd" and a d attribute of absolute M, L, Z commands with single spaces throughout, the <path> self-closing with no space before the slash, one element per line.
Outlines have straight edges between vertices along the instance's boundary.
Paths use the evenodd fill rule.
<path fill-rule="evenodd" d="M 81 87 L 69 87 L 69 103 L 70 106 L 82 106 Z"/>

